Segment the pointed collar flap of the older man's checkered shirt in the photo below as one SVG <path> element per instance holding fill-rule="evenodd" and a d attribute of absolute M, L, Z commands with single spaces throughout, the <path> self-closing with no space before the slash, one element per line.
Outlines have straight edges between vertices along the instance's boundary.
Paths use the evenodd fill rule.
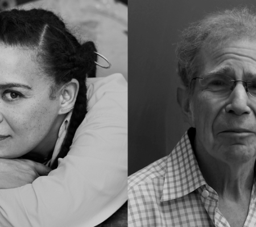
<path fill-rule="evenodd" d="M 195 132 L 190 128 L 167 158 L 161 202 L 183 197 L 207 184 L 189 140 Z"/>

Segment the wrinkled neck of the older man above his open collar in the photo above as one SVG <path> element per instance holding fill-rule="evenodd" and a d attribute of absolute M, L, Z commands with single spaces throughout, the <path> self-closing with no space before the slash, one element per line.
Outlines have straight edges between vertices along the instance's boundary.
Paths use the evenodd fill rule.
<path fill-rule="evenodd" d="M 197 162 L 205 181 L 220 197 L 240 200 L 250 195 L 254 182 L 255 158 L 246 163 L 228 163 L 210 155 L 203 146 L 196 144 L 195 136 L 189 134 L 189 139 L 196 155 Z M 194 134 L 195 135 L 195 134 Z"/>

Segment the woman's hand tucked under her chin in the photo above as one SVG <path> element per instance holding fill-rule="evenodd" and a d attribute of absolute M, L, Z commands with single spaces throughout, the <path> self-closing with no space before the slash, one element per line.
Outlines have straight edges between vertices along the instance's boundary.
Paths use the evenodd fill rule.
<path fill-rule="evenodd" d="M 0 158 L 0 189 L 16 188 L 46 176 L 51 168 L 28 159 Z"/>

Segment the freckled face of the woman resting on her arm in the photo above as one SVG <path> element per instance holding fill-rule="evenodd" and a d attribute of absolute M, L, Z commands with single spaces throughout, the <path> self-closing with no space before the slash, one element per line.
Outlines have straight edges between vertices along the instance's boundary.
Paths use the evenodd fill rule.
<path fill-rule="evenodd" d="M 54 148 L 63 115 L 51 85 L 30 51 L 0 45 L 0 158 Z"/>

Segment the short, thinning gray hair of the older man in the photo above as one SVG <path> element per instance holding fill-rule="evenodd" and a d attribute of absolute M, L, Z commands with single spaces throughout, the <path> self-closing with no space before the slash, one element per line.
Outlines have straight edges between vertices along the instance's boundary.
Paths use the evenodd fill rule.
<path fill-rule="evenodd" d="M 183 31 L 177 46 L 177 72 L 185 86 L 196 77 L 203 61 L 200 50 L 220 47 L 228 41 L 256 41 L 256 15 L 247 8 L 218 11 L 192 23 Z"/>

